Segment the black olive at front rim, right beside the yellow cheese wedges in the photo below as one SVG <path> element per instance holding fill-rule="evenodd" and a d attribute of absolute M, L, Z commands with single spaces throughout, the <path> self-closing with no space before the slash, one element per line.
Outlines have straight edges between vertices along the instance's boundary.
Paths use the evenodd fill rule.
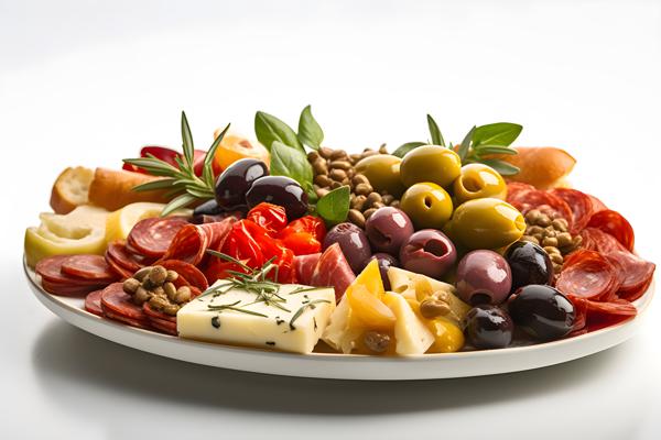
<path fill-rule="evenodd" d="M 466 339 L 477 349 L 502 349 L 512 342 L 514 324 L 498 306 L 475 306 L 464 320 Z"/>

